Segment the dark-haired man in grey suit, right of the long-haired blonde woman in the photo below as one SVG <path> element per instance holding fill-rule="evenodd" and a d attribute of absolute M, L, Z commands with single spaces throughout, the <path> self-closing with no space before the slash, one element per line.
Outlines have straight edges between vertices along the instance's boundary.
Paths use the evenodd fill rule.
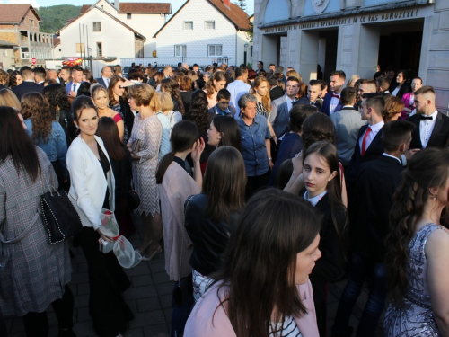
<path fill-rule="evenodd" d="M 288 77 L 286 79 L 286 94 L 271 102 L 269 121 L 271 122 L 271 126 L 275 131 L 278 141 L 282 141 L 284 135 L 288 131 L 288 122 L 290 121 L 288 113 L 290 109 L 292 109 L 298 91 L 299 80 L 293 76 Z"/>

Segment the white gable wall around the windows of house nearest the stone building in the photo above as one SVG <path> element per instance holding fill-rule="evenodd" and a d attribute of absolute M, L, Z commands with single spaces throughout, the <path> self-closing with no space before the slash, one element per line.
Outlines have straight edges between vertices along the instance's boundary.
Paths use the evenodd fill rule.
<path fill-rule="evenodd" d="M 215 30 L 205 29 L 205 21 L 209 20 L 216 22 Z M 184 31 L 184 21 L 193 21 L 193 31 Z M 157 56 L 173 58 L 174 45 L 187 45 L 187 58 L 207 58 L 207 45 L 210 44 L 222 45 L 222 55 L 232 58 L 230 64 L 237 63 L 233 23 L 207 1 L 190 0 L 157 35 Z"/>

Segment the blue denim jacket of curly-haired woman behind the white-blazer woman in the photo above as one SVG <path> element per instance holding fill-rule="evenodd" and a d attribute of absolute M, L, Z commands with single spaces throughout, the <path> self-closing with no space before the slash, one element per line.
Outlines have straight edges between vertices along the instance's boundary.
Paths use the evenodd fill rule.
<path fill-rule="evenodd" d="M 25 130 L 31 137 L 32 120 L 25 120 L 24 123 L 27 126 L 27 129 Z M 51 122 L 51 131 L 48 134 L 48 139 L 46 139 L 46 141 L 42 139 L 36 139 L 34 141 L 34 144 L 36 144 L 36 146 L 39 146 L 45 152 L 50 162 L 56 162 L 58 160 L 62 167 L 62 174 L 64 179 L 68 178 L 66 165 L 67 141 L 66 134 L 64 133 L 64 129 L 62 129 L 61 124 L 53 120 Z"/>

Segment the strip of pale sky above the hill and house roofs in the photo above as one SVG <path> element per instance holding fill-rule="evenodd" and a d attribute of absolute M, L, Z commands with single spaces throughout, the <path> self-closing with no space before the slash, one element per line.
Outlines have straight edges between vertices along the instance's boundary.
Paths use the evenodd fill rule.
<path fill-rule="evenodd" d="M 185 3 L 185 0 L 119 0 L 121 3 L 171 3 L 172 4 L 172 13 L 176 13 L 176 11 L 180 8 L 182 4 Z M 52 6 L 56 4 L 74 4 L 74 5 L 83 5 L 83 4 L 94 4 L 95 0 L 0 0 L 0 4 L 31 4 L 33 7 L 39 8 L 39 6 Z M 113 0 L 110 0 L 113 2 Z M 233 3 L 238 3 L 237 0 L 231 0 Z M 246 0 L 246 5 L 248 8 L 248 13 L 254 13 L 254 0 Z"/>

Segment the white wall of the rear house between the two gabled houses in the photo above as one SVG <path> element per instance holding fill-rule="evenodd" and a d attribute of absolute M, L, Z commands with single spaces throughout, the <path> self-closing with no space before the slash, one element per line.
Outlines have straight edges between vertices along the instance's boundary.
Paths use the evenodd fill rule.
<path fill-rule="evenodd" d="M 128 24 L 129 27 L 145 36 L 144 56 L 145 58 L 151 58 L 153 50 L 156 50 L 156 39 L 153 36 L 165 23 L 165 15 L 131 13 L 131 19 L 127 19 L 127 13 L 117 13 L 116 9 L 106 3 L 105 0 L 101 0 L 97 7 L 101 8 L 101 5 L 105 12 L 112 14 L 121 22 Z"/>

